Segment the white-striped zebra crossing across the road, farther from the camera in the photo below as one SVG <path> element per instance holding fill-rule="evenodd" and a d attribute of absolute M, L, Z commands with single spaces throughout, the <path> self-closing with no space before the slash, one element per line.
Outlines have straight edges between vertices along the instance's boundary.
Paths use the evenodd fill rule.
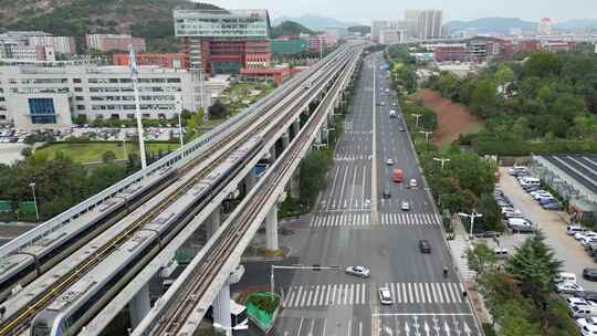
<path fill-rule="evenodd" d="M 438 225 L 439 214 L 433 213 L 380 213 L 381 225 Z M 312 228 L 322 227 L 364 227 L 371 224 L 370 212 L 320 213 L 313 217 Z"/>

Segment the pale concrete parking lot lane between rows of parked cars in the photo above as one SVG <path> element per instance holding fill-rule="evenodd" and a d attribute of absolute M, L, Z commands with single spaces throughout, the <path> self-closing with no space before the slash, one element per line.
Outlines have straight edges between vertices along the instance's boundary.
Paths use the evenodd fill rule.
<path fill-rule="evenodd" d="M 546 242 L 554 249 L 556 256 L 564 262 L 563 271 L 576 274 L 577 283 L 585 291 L 597 291 L 597 282 L 583 279 L 583 269 L 595 267 L 593 261 L 583 246 L 566 234 L 568 216 L 563 211 L 544 210 L 537 201 L 526 193 L 515 177 L 509 175 L 507 168 L 500 168 L 500 187 L 516 209 L 530 219 L 546 235 Z M 522 235 L 523 234 L 516 234 Z"/>

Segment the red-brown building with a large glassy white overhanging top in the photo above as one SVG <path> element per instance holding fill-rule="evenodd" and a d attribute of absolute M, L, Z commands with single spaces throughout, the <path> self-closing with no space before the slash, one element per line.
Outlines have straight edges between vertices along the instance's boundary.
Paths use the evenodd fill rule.
<path fill-rule="evenodd" d="M 216 75 L 270 66 L 266 10 L 175 10 L 174 19 L 191 69 Z"/>

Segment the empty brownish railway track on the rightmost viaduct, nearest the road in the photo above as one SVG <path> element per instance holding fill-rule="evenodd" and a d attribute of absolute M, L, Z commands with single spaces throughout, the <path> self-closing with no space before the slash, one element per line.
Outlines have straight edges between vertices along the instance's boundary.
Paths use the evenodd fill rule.
<path fill-rule="evenodd" d="M 325 104 L 325 102 L 322 104 Z M 320 114 L 323 113 L 324 112 L 320 112 Z M 207 262 L 203 263 L 192 274 L 192 276 L 189 276 L 189 279 L 193 279 L 196 282 L 190 285 L 186 285 L 186 287 L 189 287 L 190 290 L 186 291 L 186 294 L 179 295 L 186 295 L 186 297 L 176 297 L 170 300 L 170 302 L 182 302 L 182 304 L 175 307 L 172 312 L 169 312 L 170 314 L 168 315 L 172 317 L 169 318 L 165 324 L 158 325 L 157 329 L 153 330 L 151 334 L 172 336 L 178 333 L 182 326 L 182 322 L 195 308 L 198 302 L 197 298 L 202 297 L 206 294 L 209 285 L 218 275 L 219 270 L 221 270 L 232 251 L 234 251 L 234 248 L 242 239 L 243 233 L 258 217 L 260 208 L 266 203 L 268 198 L 270 198 L 275 191 L 275 188 L 280 183 L 283 176 L 291 169 L 292 164 L 295 160 L 301 159 L 300 156 L 302 146 L 310 139 L 310 135 L 313 132 L 316 132 L 315 119 L 315 117 L 311 118 L 307 124 L 308 128 L 302 132 L 302 137 L 297 140 L 300 145 L 292 147 L 293 150 L 284 154 L 284 165 L 274 168 L 276 171 L 266 177 L 265 181 L 263 182 L 264 186 L 255 193 L 254 199 L 247 204 L 247 209 L 240 213 L 239 218 L 235 220 L 235 223 L 229 225 L 221 235 L 220 241 L 213 244 L 212 251 L 208 252 L 209 258 L 207 258 Z"/>

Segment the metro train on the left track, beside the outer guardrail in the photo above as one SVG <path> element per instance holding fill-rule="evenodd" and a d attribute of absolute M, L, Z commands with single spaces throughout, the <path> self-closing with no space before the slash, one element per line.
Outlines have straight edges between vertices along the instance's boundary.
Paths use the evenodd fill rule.
<path fill-rule="evenodd" d="M 85 224 L 76 225 L 76 230 L 66 224 L 23 250 L 0 259 L 0 302 L 130 213 L 176 179 L 178 179 L 176 169 L 163 169 L 147 182 L 142 181 L 142 185 L 133 185 L 123 190 L 122 193 L 126 196 L 114 197 L 90 207 L 87 212 L 80 217 L 91 216 L 92 210 L 98 211 L 100 214 Z"/>

